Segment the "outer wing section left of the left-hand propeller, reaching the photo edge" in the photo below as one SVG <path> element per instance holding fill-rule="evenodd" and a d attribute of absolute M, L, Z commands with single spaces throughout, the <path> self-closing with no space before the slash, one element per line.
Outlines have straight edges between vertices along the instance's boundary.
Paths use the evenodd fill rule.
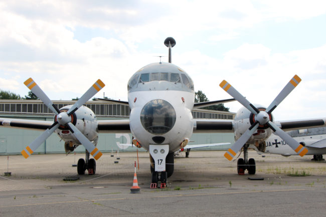
<path fill-rule="evenodd" d="M 52 124 L 53 121 L 40 121 L 40 120 L 27 120 L 27 119 L 0 117 L 0 126 L 2 127 L 44 131 L 48 129 Z"/>

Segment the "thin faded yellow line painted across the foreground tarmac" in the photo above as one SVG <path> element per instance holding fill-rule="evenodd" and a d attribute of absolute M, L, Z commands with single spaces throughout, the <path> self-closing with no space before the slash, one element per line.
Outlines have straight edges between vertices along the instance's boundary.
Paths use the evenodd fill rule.
<path fill-rule="evenodd" d="M 177 196 L 206 196 L 206 195 L 223 195 L 223 194 L 242 194 L 242 193 L 266 193 L 266 192 L 284 192 L 284 191 L 302 191 L 308 189 L 289 189 L 289 190 L 261 190 L 261 191 L 240 191 L 240 192 L 220 192 L 220 193 L 198 193 L 198 194 L 177 194 L 177 195 L 164 195 L 164 196 L 146 196 L 146 197 L 125 197 L 125 198 L 107 198 L 107 199 L 85 199 L 85 200 L 72 200 L 72 201 L 60 201 L 60 202 L 44 202 L 44 203 L 31 203 L 21 205 L 4 205 L 0 208 L 6 207 L 20 207 L 20 206 L 32 206 L 32 205 L 51 205 L 60 203 L 75 203 L 75 202 L 96 202 L 105 200 L 126 200 L 126 199 L 148 199 L 148 198 L 160 198 L 160 197 L 177 197 Z"/>

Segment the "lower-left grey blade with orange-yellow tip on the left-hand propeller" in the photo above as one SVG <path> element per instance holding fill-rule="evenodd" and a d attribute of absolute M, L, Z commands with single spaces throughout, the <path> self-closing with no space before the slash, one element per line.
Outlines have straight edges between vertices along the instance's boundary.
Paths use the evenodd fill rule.
<path fill-rule="evenodd" d="M 58 129 L 60 124 L 58 122 L 53 123 L 48 129 L 46 129 L 39 137 L 37 137 L 30 145 L 28 145 L 21 153 L 25 158 L 28 158 L 33 152 Z"/>

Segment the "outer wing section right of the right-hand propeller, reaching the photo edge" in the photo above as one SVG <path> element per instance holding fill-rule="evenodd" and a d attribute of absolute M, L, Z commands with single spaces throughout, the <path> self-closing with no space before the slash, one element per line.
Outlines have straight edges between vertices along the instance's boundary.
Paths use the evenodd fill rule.
<path fill-rule="evenodd" d="M 298 130 L 298 129 L 326 126 L 326 118 L 291 120 L 291 121 L 275 121 L 275 124 L 284 131 Z"/>

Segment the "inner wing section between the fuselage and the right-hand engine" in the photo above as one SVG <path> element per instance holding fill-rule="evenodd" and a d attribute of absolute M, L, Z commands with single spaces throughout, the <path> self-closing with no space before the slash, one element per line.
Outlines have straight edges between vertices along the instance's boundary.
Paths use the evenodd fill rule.
<path fill-rule="evenodd" d="M 194 119 L 194 133 L 233 133 L 234 120 Z"/>

